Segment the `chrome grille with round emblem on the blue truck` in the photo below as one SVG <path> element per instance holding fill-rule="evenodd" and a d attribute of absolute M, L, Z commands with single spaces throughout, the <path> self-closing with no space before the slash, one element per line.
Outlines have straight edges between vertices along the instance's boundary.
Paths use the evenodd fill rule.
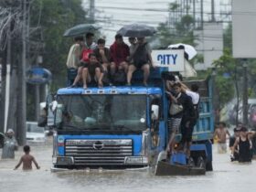
<path fill-rule="evenodd" d="M 133 155 L 133 141 L 69 139 L 65 153 L 73 156 L 75 165 L 124 165 L 124 157 Z"/>

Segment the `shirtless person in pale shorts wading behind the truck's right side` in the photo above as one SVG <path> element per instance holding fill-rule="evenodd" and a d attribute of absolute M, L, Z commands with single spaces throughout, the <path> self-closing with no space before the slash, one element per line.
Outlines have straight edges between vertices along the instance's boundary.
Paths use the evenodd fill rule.
<path fill-rule="evenodd" d="M 224 154 L 227 153 L 227 134 L 230 136 L 228 129 L 226 128 L 226 123 L 218 123 L 218 127 L 214 132 L 213 138 L 218 136 L 218 153 Z"/>

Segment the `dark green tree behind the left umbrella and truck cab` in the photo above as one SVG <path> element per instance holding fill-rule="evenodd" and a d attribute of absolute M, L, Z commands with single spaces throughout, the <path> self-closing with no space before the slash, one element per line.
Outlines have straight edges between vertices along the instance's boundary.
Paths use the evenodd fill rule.
<path fill-rule="evenodd" d="M 63 37 L 64 31 L 86 23 L 81 3 L 81 0 L 35 0 L 31 7 L 30 27 L 39 29 L 32 38 L 42 44 L 37 54 L 43 54 L 42 67 L 52 72 L 53 85 L 64 85 L 66 80 L 66 59 L 72 38 Z"/>

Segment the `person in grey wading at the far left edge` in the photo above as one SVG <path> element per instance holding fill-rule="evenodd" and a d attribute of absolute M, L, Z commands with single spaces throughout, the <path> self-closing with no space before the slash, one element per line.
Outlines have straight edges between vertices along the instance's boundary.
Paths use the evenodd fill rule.
<path fill-rule="evenodd" d="M 15 151 L 17 150 L 17 142 L 15 138 L 15 132 L 12 129 L 8 129 L 5 133 L 4 147 L 2 152 L 2 159 L 15 158 Z"/>

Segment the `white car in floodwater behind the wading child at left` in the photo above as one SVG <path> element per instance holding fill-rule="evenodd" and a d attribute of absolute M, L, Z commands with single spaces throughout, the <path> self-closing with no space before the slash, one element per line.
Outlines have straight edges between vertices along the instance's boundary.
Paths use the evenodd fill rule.
<path fill-rule="evenodd" d="M 37 122 L 27 122 L 27 143 L 46 143 L 46 133 L 43 127 L 38 127 Z"/>

